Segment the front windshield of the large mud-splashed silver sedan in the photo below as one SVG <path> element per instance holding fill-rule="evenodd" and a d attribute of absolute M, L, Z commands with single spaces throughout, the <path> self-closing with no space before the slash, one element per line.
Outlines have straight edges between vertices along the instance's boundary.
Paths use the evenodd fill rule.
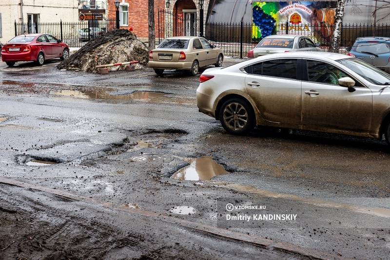
<path fill-rule="evenodd" d="M 390 85 L 390 75 L 386 72 L 356 58 L 336 60 L 350 68 L 362 78 L 376 85 Z"/>

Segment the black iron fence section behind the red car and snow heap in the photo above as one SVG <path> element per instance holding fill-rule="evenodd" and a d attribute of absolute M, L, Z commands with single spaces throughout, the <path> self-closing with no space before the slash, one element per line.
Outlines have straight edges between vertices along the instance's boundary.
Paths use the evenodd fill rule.
<path fill-rule="evenodd" d="M 66 42 L 69 47 L 78 48 L 82 47 L 85 42 L 115 28 L 115 19 L 103 17 L 79 22 L 15 22 L 15 36 L 25 33 L 47 33 Z"/>

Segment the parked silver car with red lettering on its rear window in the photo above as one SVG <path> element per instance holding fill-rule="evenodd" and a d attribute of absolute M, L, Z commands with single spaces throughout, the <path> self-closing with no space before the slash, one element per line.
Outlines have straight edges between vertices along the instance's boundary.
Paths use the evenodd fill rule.
<path fill-rule="evenodd" d="M 257 46 L 248 52 L 248 58 L 256 58 L 266 54 L 291 51 L 320 51 L 319 43 L 314 43 L 304 35 L 270 35 L 261 40 Z"/>

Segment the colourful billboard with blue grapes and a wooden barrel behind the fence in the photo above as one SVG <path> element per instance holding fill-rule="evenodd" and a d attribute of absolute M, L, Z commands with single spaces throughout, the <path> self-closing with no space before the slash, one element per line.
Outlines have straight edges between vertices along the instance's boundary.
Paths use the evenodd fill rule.
<path fill-rule="evenodd" d="M 336 1 L 253 2 L 253 40 L 271 34 L 300 34 L 329 40 Z"/>

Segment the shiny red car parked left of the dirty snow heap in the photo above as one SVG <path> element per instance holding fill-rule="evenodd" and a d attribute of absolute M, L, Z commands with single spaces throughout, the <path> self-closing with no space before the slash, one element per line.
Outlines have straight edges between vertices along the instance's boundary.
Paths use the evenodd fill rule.
<path fill-rule="evenodd" d="M 42 65 L 45 60 L 69 57 L 68 44 L 49 34 L 19 35 L 1 47 L 1 60 L 8 66 L 17 61 L 35 61 Z"/>

